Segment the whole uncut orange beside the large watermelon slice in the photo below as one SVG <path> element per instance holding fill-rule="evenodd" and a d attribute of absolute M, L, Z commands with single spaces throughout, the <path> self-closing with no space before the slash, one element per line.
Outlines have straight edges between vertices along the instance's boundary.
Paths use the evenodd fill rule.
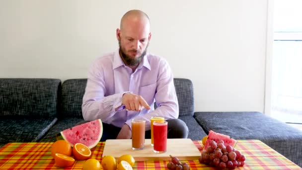
<path fill-rule="evenodd" d="M 72 146 L 65 140 L 56 141 L 51 146 L 51 155 L 55 158 L 55 154 L 72 155 Z"/>

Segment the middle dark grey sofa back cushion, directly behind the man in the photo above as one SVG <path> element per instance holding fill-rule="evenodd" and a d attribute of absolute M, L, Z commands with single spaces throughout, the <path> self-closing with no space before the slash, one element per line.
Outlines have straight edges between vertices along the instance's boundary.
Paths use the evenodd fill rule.
<path fill-rule="evenodd" d="M 62 84 L 62 116 L 82 117 L 82 98 L 87 79 L 70 79 Z M 174 79 L 179 105 L 179 116 L 191 115 L 194 112 L 193 85 L 188 79 Z"/>

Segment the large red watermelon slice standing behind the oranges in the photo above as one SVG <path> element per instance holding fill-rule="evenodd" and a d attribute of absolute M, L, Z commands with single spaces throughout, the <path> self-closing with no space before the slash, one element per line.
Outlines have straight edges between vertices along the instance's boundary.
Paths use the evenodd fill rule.
<path fill-rule="evenodd" d="M 66 129 L 56 134 L 56 139 L 66 140 L 72 147 L 74 147 L 76 143 L 81 143 L 91 149 L 101 140 L 102 134 L 103 124 L 101 119 L 97 119 Z"/>

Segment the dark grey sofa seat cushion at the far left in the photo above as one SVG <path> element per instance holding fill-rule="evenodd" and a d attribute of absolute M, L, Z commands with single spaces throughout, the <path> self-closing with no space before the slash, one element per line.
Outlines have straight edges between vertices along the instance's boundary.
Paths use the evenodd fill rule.
<path fill-rule="evenodd" d="M 10 142 L 37 142 L 56 121 L 57 118 L 1 116 L 0 145 Z"/>

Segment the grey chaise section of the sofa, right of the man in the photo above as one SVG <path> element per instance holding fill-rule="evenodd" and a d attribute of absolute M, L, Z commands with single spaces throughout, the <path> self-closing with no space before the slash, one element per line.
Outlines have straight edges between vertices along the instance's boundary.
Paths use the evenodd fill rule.
<path fill-rule="evenodd" d="M 258 139 L 302 167 L 302 132 L 259 112 L 196 112 L 208 133 L 213 130 L 234 139 Z"/>

